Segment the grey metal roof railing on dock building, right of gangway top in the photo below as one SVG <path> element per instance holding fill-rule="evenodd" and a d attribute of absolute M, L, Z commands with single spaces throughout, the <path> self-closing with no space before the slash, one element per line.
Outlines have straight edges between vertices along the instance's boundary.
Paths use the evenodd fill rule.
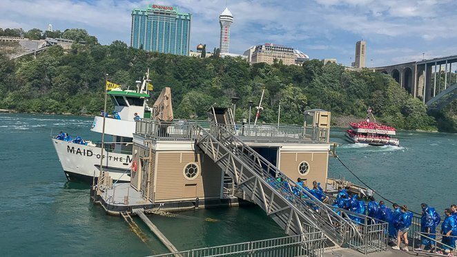
<path fill-rule="evenodd" d="M 252 142 L 298 142 L 327 143 L 327 128 L 280 124 L 236 124 L 235 135 L 244 141 Z"/>

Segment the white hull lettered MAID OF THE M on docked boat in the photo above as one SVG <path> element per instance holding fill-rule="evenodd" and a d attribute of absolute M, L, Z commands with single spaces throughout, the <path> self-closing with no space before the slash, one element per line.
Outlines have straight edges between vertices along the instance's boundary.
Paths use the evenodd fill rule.
<path fill-rule="evenodd" d="M 83 180 L 92 183 L 99 175 L 101 148 L 75 144 L 52 138 L 57 156 L 68 180 Z M 132 155 L 104 151 L 103 170 L 110 173 L 113 181 L 130 182 Z M 127 172 L 126 172 L 127 171 Z"/>

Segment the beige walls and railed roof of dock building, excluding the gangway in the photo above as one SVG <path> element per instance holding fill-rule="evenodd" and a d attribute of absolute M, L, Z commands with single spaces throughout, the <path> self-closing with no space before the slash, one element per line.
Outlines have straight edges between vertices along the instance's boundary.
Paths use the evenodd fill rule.
<path fill-rule="evenodd" d="M 324 185 L 329 162 L 330 116 L 321 112 L 316 117 L 321 120 L 312 117 L 308 125 L 320 124 L 318 130 L 262 124 L 240 125 L 242 129 L 234 133 L 291 180 L 302 178 L 308 186 L 314 180 Z M 133 162 L 137 169 L 132 171 L 130 183 L 133 189 L 141 191 L 145 200 L 169 203 L 226 198 L 227 176 L 196 145 L 198 131 L 193 124 L 173 122 L 164 126 L 152 120 L 142 122 L 144 126 L 139 128 L 137 124 L 133 138 Z M 233 183 L 232 186 L 236 188 Z"/>

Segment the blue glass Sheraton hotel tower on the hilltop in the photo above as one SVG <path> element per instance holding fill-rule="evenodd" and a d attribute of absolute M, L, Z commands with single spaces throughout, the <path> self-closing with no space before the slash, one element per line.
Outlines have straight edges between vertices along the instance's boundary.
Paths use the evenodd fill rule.
<path fill-rule="evenodd" d="M 130 46 L 133 48 L 188 55 L 190 42 L 190 13 L 155 4 L 132 11 Z"/>

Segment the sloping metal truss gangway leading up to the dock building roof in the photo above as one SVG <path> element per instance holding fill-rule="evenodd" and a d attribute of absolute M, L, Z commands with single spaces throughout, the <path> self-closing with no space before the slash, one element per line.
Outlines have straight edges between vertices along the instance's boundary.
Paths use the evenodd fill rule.
<path fill-rule="evenodd" d="M 298 186 L 293 180 L 235 137 L 224 125 L 213 125 L 210 131 L 197 126 L 196 144 L 286 234 L 307 233 L 303 224 L 308 224 L 322 229 L 335 245 L 344 245 L 351 238 L 360 236 L 352 222 L 344 220 L 311 193 L 302 190 L 296 195 L 294 190 Z"/>

